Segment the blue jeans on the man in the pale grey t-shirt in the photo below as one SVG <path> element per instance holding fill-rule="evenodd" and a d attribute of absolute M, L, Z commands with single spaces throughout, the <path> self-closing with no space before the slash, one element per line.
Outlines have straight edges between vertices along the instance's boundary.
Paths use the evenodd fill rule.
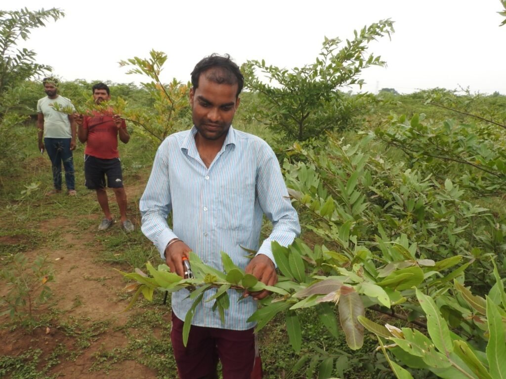
<path fill-rule="evenodd" d="M 55 189 L 62 189 L 62 162 L 65 168 L 67 190 L 75 189 L 74 160 L 70 150 L 70 138 L 44 138 L 44 145 L 53 166 Z"/>

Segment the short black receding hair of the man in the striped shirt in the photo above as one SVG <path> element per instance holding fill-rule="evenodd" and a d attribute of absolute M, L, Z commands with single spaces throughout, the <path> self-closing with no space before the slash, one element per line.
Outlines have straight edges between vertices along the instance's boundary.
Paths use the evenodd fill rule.
<path fill-rule="evenodd" d="M 198 79 L 200 74 L 208 72 L 207 79 L 214 81 L 218 84 L 237 84 L 236 97 L 241 93 L 244 86 L 244 76 L 242 76 L 239 66 L 235 64 L 228 54 L 221 56 L 219 54 L 212 54 L 203 58 L 195 65 L 191 72 L 191 83 L 193 88 L 198 88 Z"/>

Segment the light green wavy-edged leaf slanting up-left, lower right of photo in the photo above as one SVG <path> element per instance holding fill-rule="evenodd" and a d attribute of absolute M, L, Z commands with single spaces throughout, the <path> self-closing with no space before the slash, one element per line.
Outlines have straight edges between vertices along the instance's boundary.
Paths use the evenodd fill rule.
<path fill-rule="evenodd" d="M 439 308 L 430 296 L 424 295 L 417 289 L 416 297 L 427 316 L 427 328 L 434 345 L 441 353 L 448 356 L 453 350 L 453 343 L 445 319 L 441 317 Z"/>

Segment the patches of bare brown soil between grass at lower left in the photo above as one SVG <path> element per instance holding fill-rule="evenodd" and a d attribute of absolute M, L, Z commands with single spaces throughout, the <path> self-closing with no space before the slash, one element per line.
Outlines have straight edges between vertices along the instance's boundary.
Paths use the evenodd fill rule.
<path fill-rule="evenodd" d="M 136 214 L 136 202 L 142 194 L 144 183 L 127 187 L 129 196 L 129 213 Z M 112 191 L 109 191 L 109 201 L 114 202 Z M 133 209 L 130 209 L 133 208 Z M 126 306 L 126 300 L 119 297 L 120 289 L 125 286 L 121 275 L 111 269 L 111 266 L 97 263 L 99 243 L 96 241 L 96 225 L 101 215 L 91 214 L 87 217 L 96 220 L 93 227 L 88 230 L 79 229 L 69 222 L 72 215 L 47 220 L 40 225 L 43 232 L 61 230 L 61 238 L 57 249 L 34 249 L 26 252 L 28 257 L 37 255 L 49 256 L 55 269 L 55 281 L 51 283 L 54 294 L 58 299 L 54 307 L 59 311 L 59 320 L 54 325 L 37 327 L 32 335 L 18 327 L 15 330 L 0 328 L 0 355 L 18 356 L 25 353 L 29 348 L 41 349 L 42 356 L 47 356 L 53 349 L 63 344 L 69 350 L 76 350 L 76 338 L 68 336 L 60 330 L 58 324 L 62 320 L 89 319 L 87 324 L 93 322 L 109 321 L 107 333 L 101 333 L 96 340 L 92 340 L 91 346 L 81 350 L 75 361 L 61 360 L 49 374 L 57 377 L 72 379 L 89 379 L 107 377 L 110 379 L 130 378 L 154 378 L 156 372 L 134 360 L 122 361 L 113 365 L 107 373 L 103 371 L 90 371 L 96 362 L 94 354 L 99 350 L 110 351 L 115 347 L 124 346 L 127 343 L 125 336 L 118 331 L 113 331 L 114 326 L 123 325 L 129 316 L 129 312 L 120 313 Z M 136 220 L 132 220 L 136 227 L 140 227 Z M 119 224 L 113 225 L 112 229 L 119 228 Z M 109 231 L 107 231 L 109 232 Z M 117 233 L 117 230 L 111 230 Z M 18 244 L 23 236 L 10 236 L 3 238 L 2 244 Z M 70 248 L 69 248 L 70 247 Z M 112 289 L 112 290 L 111 290 Z M 116 290 L 114 290 L 116 289 Z M 3 295 L 5 289 L 0 289 Z M 76 303 L 77 300 L 77 303 Z M 0 324 L 7 323 L 7 315 L 0 317 Z"/>

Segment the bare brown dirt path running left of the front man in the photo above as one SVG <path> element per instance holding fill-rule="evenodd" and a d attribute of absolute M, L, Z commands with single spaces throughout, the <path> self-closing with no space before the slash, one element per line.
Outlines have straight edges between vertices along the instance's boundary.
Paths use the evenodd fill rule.
<path fill-rule="evenodd" d="M 126 188 L 129 196 L 129 212 L 137 229 L 140 225 L 136 219 L 138 218 L 136 201 L 143 188 L 143 182 Z M 109 196 L 110 202 L 113 203 L 112 192 Z M 86 200 L 93 204 L 93 198 L 94 194 L 85 193 L 83 190 L 75 199 L 65 201 L 71 204 L 75 201 L 77 204 Z M 53 202 L 57 203 L 58 199 L 44 199 L 43 202 L 44 204 L 40 206 L 48 207 L 52 206 Z M 108 360 L 109 363 L 100 365 L 103 363 L 104 355 L 128 345 L 128 333 L 125 333 L 124 325 L 133 314 L 142 312 L 140 309 L 121 312 L 129 301 L 120 291 L 125 286 L 125 281 L 113 270 L 111 264 L 99 259 L 100 250 L 103 249 L 101 239 L 104 238 L 104 234 L 99 234 L 97 230 L 100 219 L 101 214 L 98 211 L 80 215 L 78 220 L 72 211 L 60 211 L 56 217 L 39 223 L 38 230 L 45 235 L 54 235 L 54 243 L 44 244 L 24 254 L 29 259 L 47 255 L 54 265 L 55 281 L 50 285 L 54 297 L 49 305 L 39 309 L 41 313 L 51 314 L 51 317 L 37 326 L 32 335 L 22 327 L 0 328 L 1 356 L 20 357 L 30 349 L 40 350 L 34 355 L 40 354 L 37 368 L 44 371 L 45 377 L 72 379 L 157 377 L 154 369 L 139 363 L 139 359 L 134 357 L 128 359 L 122 356 L 121 359 L 117 358 L 118 362 L 115 363 L 114 357 L 109 356 L 112 358 Z M 110 235 L 111 238 L 121 239 L 124 236 L 126 239 L 126 234 L 121 230 L 119 223 L 102 233 Z M 0 247 L 19 244 L 24 237 L 23 235 L 1 237 Z M 118 255 L 122 254 L 120 246 L 121 244 L 116 253 Z M 6 291 L 7 288 L 0 288 L 0 295 L 5 295 Z M 166 319 L 168 320 L 168 317 Z M 0 316 L 0 325 L 7 325 L 9 321 L 8 315 Z M 1 367 L 0 377 L 2 377 Z"/>

